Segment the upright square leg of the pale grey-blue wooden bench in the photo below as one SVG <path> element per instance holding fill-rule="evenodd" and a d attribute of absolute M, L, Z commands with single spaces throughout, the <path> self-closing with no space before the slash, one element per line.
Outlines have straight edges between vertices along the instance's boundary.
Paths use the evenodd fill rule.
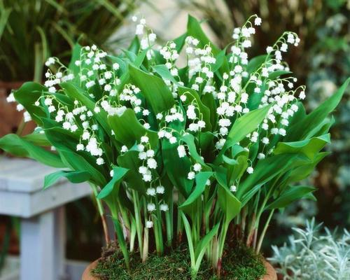
<path fill-rule="evenodd" d="M 20 280 L 59 280 L 64 274 L 64 208 L 21 221 Z"/>

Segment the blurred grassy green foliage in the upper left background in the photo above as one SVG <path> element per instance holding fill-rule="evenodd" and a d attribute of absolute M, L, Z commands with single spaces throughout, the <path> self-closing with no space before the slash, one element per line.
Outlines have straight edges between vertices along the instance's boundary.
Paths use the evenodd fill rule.
<path fill-rule="evenodd" d="M 50 56 L 76 41 L 112 50 L 111 36 L 142 0 L 0 0 L 0 80 L 41 80 Z"/>

